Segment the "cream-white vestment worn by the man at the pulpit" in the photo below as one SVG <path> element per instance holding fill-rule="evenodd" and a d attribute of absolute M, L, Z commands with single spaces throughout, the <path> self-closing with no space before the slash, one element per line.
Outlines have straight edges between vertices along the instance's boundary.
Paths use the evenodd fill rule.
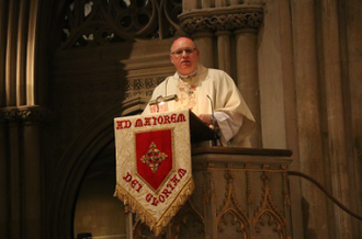
<path fill-rule="evenodd" d="M 181 79 L 176 72 L 156 87 L 151 100 L 171 94 L 177 94 L 179 100 L 167 102 L 167 111 L 190 109 L 195 115 L 212 114 L 213 105 L 223 145 L 231 143 L 234 146 L 250 147 L 247 136 L 254 126 L 254 118 L 226 72 L 202 65 L 197 66 L 196 76 L 192 78 Z M 151 112 L 148 104 L 143 114 Z"/>

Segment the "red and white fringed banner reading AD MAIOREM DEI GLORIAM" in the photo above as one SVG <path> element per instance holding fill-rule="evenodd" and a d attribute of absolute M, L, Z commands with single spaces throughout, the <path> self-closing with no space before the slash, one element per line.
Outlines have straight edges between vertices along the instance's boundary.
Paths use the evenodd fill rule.
<path fill-rule="evenodd" d="M 159 236 L 194 190 L 188 110 L 114 120 L 117 196 Z"/>

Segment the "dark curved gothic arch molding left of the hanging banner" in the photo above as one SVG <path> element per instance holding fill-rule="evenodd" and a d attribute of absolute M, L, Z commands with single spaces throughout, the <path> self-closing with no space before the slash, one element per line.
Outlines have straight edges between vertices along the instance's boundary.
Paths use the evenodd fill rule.
<path fill-rule="evenodd" d="M 55 177 L 48 209 L 48 238 L 72 238 L 73 210 L 81 181 L 92 160 L 114 140 L 113 118 L 137 114 L 143 111 L 148 98 L 134 98 L 122 102 L 93 121 L 71 144 L 61 157 L 63 166 Z"/>

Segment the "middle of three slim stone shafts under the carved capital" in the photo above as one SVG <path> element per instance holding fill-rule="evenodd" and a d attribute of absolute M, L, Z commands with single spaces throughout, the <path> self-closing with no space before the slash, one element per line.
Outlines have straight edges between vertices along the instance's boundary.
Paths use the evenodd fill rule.
<path fill-rule="evenodd" d="M 216 36 L 218 69 L 224 70 L 231 76 L 230 32 L 218 31 L 216 32 Z"/>

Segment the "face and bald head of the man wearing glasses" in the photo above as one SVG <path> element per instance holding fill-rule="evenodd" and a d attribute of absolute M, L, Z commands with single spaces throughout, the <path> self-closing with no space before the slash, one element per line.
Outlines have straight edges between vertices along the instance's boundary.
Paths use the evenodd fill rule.
<path fill-rule="evenodd" d="M 173 42 L 170 58 L 179 73 L 190 75 L 197 68 L 199 54 L 195 44 L 191 39 L 181 37 Z"/>

